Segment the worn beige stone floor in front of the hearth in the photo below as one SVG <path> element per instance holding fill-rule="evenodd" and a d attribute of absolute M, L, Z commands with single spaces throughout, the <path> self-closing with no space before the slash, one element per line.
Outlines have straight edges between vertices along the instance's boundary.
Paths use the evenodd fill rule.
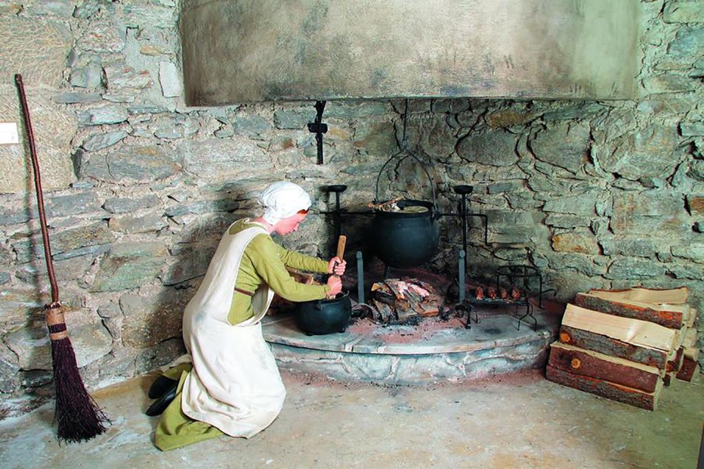
<path fill-rule="evenodd" d="M 538 370 L 425 387 L 284 373 L 279 418 L 252 439 L 161 453 L 150 377 L 95 393 L 106 434 L 60 446 L 44 406 L 0 422 L 1 468 L 694 468 L 704 385 L 674 382 L 657 411 L 546 381 Z"/>

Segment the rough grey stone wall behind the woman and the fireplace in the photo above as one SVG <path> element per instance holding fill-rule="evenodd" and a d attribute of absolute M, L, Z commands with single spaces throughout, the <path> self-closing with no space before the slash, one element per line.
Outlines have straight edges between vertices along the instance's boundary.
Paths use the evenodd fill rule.
<path fill-rule="evenodd" d="M 704 18 L 700 1 L 643 1 L 637 101 L 410 101 L 408 136 L 427 154 L 443 211 L 474 185 L 490 246 L 472 220 L 474 275 L 508 262 L 543 269 L 560 299 L 591 287 L 686 284 L 704 306 Z M 182 351 L 182 308 L 221 232 L 256 212 L 271 180 L 298 182 L 314 209 L 373 198 L 397 148 L 401 101 L 334 101 L 325 164 L 306 130 L 313 103 L 184 106 L 172 0 L 4 1 L 0 120 L 20 122 L 22 73 L 42 163 L 61 299 L 89 387 Z M 232 77 L 236 80 L 237 77 Z M 4 415 L 51 394 L 42 306 L 49 284 L 28 151 L 0 146 L 0 399 Z M 408 160 L 406 161 L 408 162 Z M 384 194 L 428 197 L 420 168 L 391 165 Z M 365 249 L 367 218 L 346 222 Z M 332 230 L 310 216 L 283 240 L 327 256 Z M 451 271 L 453 218 L 431 268 Z"/>

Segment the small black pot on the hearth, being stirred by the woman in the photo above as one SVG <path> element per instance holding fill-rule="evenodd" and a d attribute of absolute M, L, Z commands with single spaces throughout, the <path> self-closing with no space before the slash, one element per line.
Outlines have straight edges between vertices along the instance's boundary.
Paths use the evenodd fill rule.
<path fill-rule="evenodd" d="M 296 311 L 296 325 L 308 335 L 345 332 L 352 315 L 352 304 L 347 292 L 333 299 L 303 301 Z"/>

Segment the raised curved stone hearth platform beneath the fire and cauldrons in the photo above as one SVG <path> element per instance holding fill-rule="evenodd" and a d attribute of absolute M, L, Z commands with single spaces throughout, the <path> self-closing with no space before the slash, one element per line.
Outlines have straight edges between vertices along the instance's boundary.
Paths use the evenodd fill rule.
<path fill-rule="evenodd" d="M 352 325 L 343 333 L 307 336 L 290 315 L 265 318 L 263 334 L 282 368 L 342 381 L 379 384 L 456 382 L 539 368 L 559 318 L 537 311 L 538 330 L 510 314 L 479 313 L 472 329 Z M 356 331 L 356 332 L 355 332 Z M 405 334 L 405 335 L 403 335 Z M 410 339 L 409 339 L 410 337 Z"/>

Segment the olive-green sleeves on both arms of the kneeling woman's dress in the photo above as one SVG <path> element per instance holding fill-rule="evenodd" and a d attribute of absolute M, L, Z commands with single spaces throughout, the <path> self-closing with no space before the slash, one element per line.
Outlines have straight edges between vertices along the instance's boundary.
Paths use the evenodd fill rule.
<path fill-rule="evenodd" d="M 307 285 L 296 282 L 286 270 L 284 259 L 279 256 L 277 244 L 271 237 L 257 236 L 251 241 L 249 248 L 250 259 L 256 272 L 282 298 L 289 301 L 310 301 L 323 299 L 330 291 L 330 287 L 327 285 Z M 284 251 L 289 253 L 285 254 L 287 260 L 293 259 L 295 265 L 291 265 L 291 267 L 299 265 L 299 268 L 306 270 L 314 268 L 314 271 L 320 271 L 322 263 L 325 263 L 320 259 L 313 263 L 310 262 L 310 256 L 291 253 L 286 249 Z M 327 263 L 325 263 L 325 270 L 327 270 Z"/>

